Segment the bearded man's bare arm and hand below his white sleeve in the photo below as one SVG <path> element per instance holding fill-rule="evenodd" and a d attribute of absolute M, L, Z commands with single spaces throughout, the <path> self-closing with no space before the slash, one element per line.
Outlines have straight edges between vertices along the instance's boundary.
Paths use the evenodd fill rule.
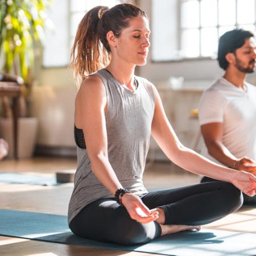
<path fill-rule="evenodd" d="M 237 170 L 256 172 L 256 165 L 253 160 L 246 157 L 236 158 L 222 143 L 223 124 L 222 122 L 206 123 L 201 125 L 201 132 L 204 137 L 209 155 L 218 162 Z M 236 138 L 234 138 L 236 139 Z"/>

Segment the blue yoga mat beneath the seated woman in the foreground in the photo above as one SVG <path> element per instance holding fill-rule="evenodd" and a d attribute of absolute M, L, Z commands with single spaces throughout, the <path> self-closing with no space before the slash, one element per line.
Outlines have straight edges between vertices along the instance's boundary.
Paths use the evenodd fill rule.
<path fill-rule="evenodd" d="M 76 237 L 67 216 L 0 209 L 0 235 L 81 245 L 112 250 L 140 251 L 163 255 L 251 256 L 256 255 L 256 234 L 201 230 L 157 238 L 145 245 L 121 246 Z"/>

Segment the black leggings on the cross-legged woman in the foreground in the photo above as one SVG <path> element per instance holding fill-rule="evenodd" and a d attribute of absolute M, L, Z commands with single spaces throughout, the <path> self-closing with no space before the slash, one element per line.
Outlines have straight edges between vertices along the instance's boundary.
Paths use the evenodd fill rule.
<path fill-rule="evenodd" d="M 223 181 L 149 192 L 141 196 L 148 208 L 162 208 L 166 223 L 204 225 L 234 212 L 242 205 L 241 191 Z M 79 237 L 124 245 L 150 242 L 161 235 L 160 225 L 132 220 L 127 210 L 113 198 L 86 205 L 70 222 Z"/>

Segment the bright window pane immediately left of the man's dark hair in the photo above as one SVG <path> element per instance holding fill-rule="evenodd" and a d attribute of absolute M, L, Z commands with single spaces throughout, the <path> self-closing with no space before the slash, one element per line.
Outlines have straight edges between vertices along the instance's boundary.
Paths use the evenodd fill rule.
<path fill-rule="evenodd" d="M 217 28 L 202 28 L 201 30 L 201 55 L 214 56 L 217 52 Z"/>

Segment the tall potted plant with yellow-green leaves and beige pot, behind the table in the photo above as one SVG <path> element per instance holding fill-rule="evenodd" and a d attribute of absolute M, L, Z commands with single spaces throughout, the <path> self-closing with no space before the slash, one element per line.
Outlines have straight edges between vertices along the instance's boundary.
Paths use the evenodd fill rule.
<path fill-rule="evenodd" d="M 0 0 L 0 72 L 23 80 L 20 82 L 19 158 L 29 157 L 34 152 L 38 121 L 28 117 L 28 104 L 33 84 L 34 49 L 36 41 L 44 41 L 44 26 L 49 21 L 45 11 L 50 1 Z M 0 119 L 0 137 L 9 142 L 10 156 L 13 154 L 11 112 L 7 101 L 2 102 L 5 111 Z"/>

